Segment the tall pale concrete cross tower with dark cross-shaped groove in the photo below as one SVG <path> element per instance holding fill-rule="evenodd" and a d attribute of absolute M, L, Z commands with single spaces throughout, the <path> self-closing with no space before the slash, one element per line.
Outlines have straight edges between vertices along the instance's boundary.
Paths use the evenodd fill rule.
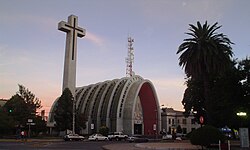
<path fill-rule="evenodd" d="M 58 30 L 66 32 L 66 47 L 63 74 L 63 90 L 69 88 L 73 96 L 76 85 L 77 37 L 85 36 L 85 29 L 78 26 L 78 17 L 70 15 L 68 22 L 61 21 Z"/>

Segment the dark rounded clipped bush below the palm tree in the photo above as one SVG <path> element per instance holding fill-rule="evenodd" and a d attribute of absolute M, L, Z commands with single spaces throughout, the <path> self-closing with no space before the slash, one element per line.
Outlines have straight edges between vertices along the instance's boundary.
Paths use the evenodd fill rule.
<path fill-rule="evenodd" d="M 219 140 L 223 143 L 225 136 L 219 129 L 209 125 L 194 130 L 190 136 L 190 142 L 193 145 L 209 146 L 219 143 Z"/>

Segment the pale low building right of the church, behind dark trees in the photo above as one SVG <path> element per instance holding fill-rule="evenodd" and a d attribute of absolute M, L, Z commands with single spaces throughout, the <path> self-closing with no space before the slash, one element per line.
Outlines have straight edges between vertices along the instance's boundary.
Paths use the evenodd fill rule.
<path fill-rule="evenodd" d="M 178 126 L 181 127 L 183 134 L 200 127 L 200 124 L 195 121 L 195 117 L 192 114 L 189 117 L 185 117 L 182 111 L 177 111 L 173 108 L 162 108 L 161 121 L 162 131 L 169 134 L 176 133 Z"/>

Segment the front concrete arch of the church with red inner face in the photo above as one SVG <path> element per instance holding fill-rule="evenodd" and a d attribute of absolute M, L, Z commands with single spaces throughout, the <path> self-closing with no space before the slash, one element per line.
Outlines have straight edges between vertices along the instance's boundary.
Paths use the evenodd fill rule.
<path fill-rule="evenodd" d="M 135 82 L 130 88 L 124 110 L 124 126 L 129 126 L 126 132 L 134 134 L 134 112 L 136 99 L 139 98 L 143 109 L 143 134 L 153 135 L 155 130 L 153 125 L 158 125 L 160 129 L 159 102 L 153 84 L 149 80 Z"/>

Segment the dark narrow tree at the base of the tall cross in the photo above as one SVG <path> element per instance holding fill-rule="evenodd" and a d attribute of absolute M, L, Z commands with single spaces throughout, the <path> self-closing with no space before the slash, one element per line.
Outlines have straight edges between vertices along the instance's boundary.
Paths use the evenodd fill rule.
<path fill-rule="evenodd" d="M 72 129 L 73 120 L 73 95 L 68 88 L 66 88 L 61 97 L 57 101 L 54 119 L 56 121 L 56 128 L 59 131 Z"/>

